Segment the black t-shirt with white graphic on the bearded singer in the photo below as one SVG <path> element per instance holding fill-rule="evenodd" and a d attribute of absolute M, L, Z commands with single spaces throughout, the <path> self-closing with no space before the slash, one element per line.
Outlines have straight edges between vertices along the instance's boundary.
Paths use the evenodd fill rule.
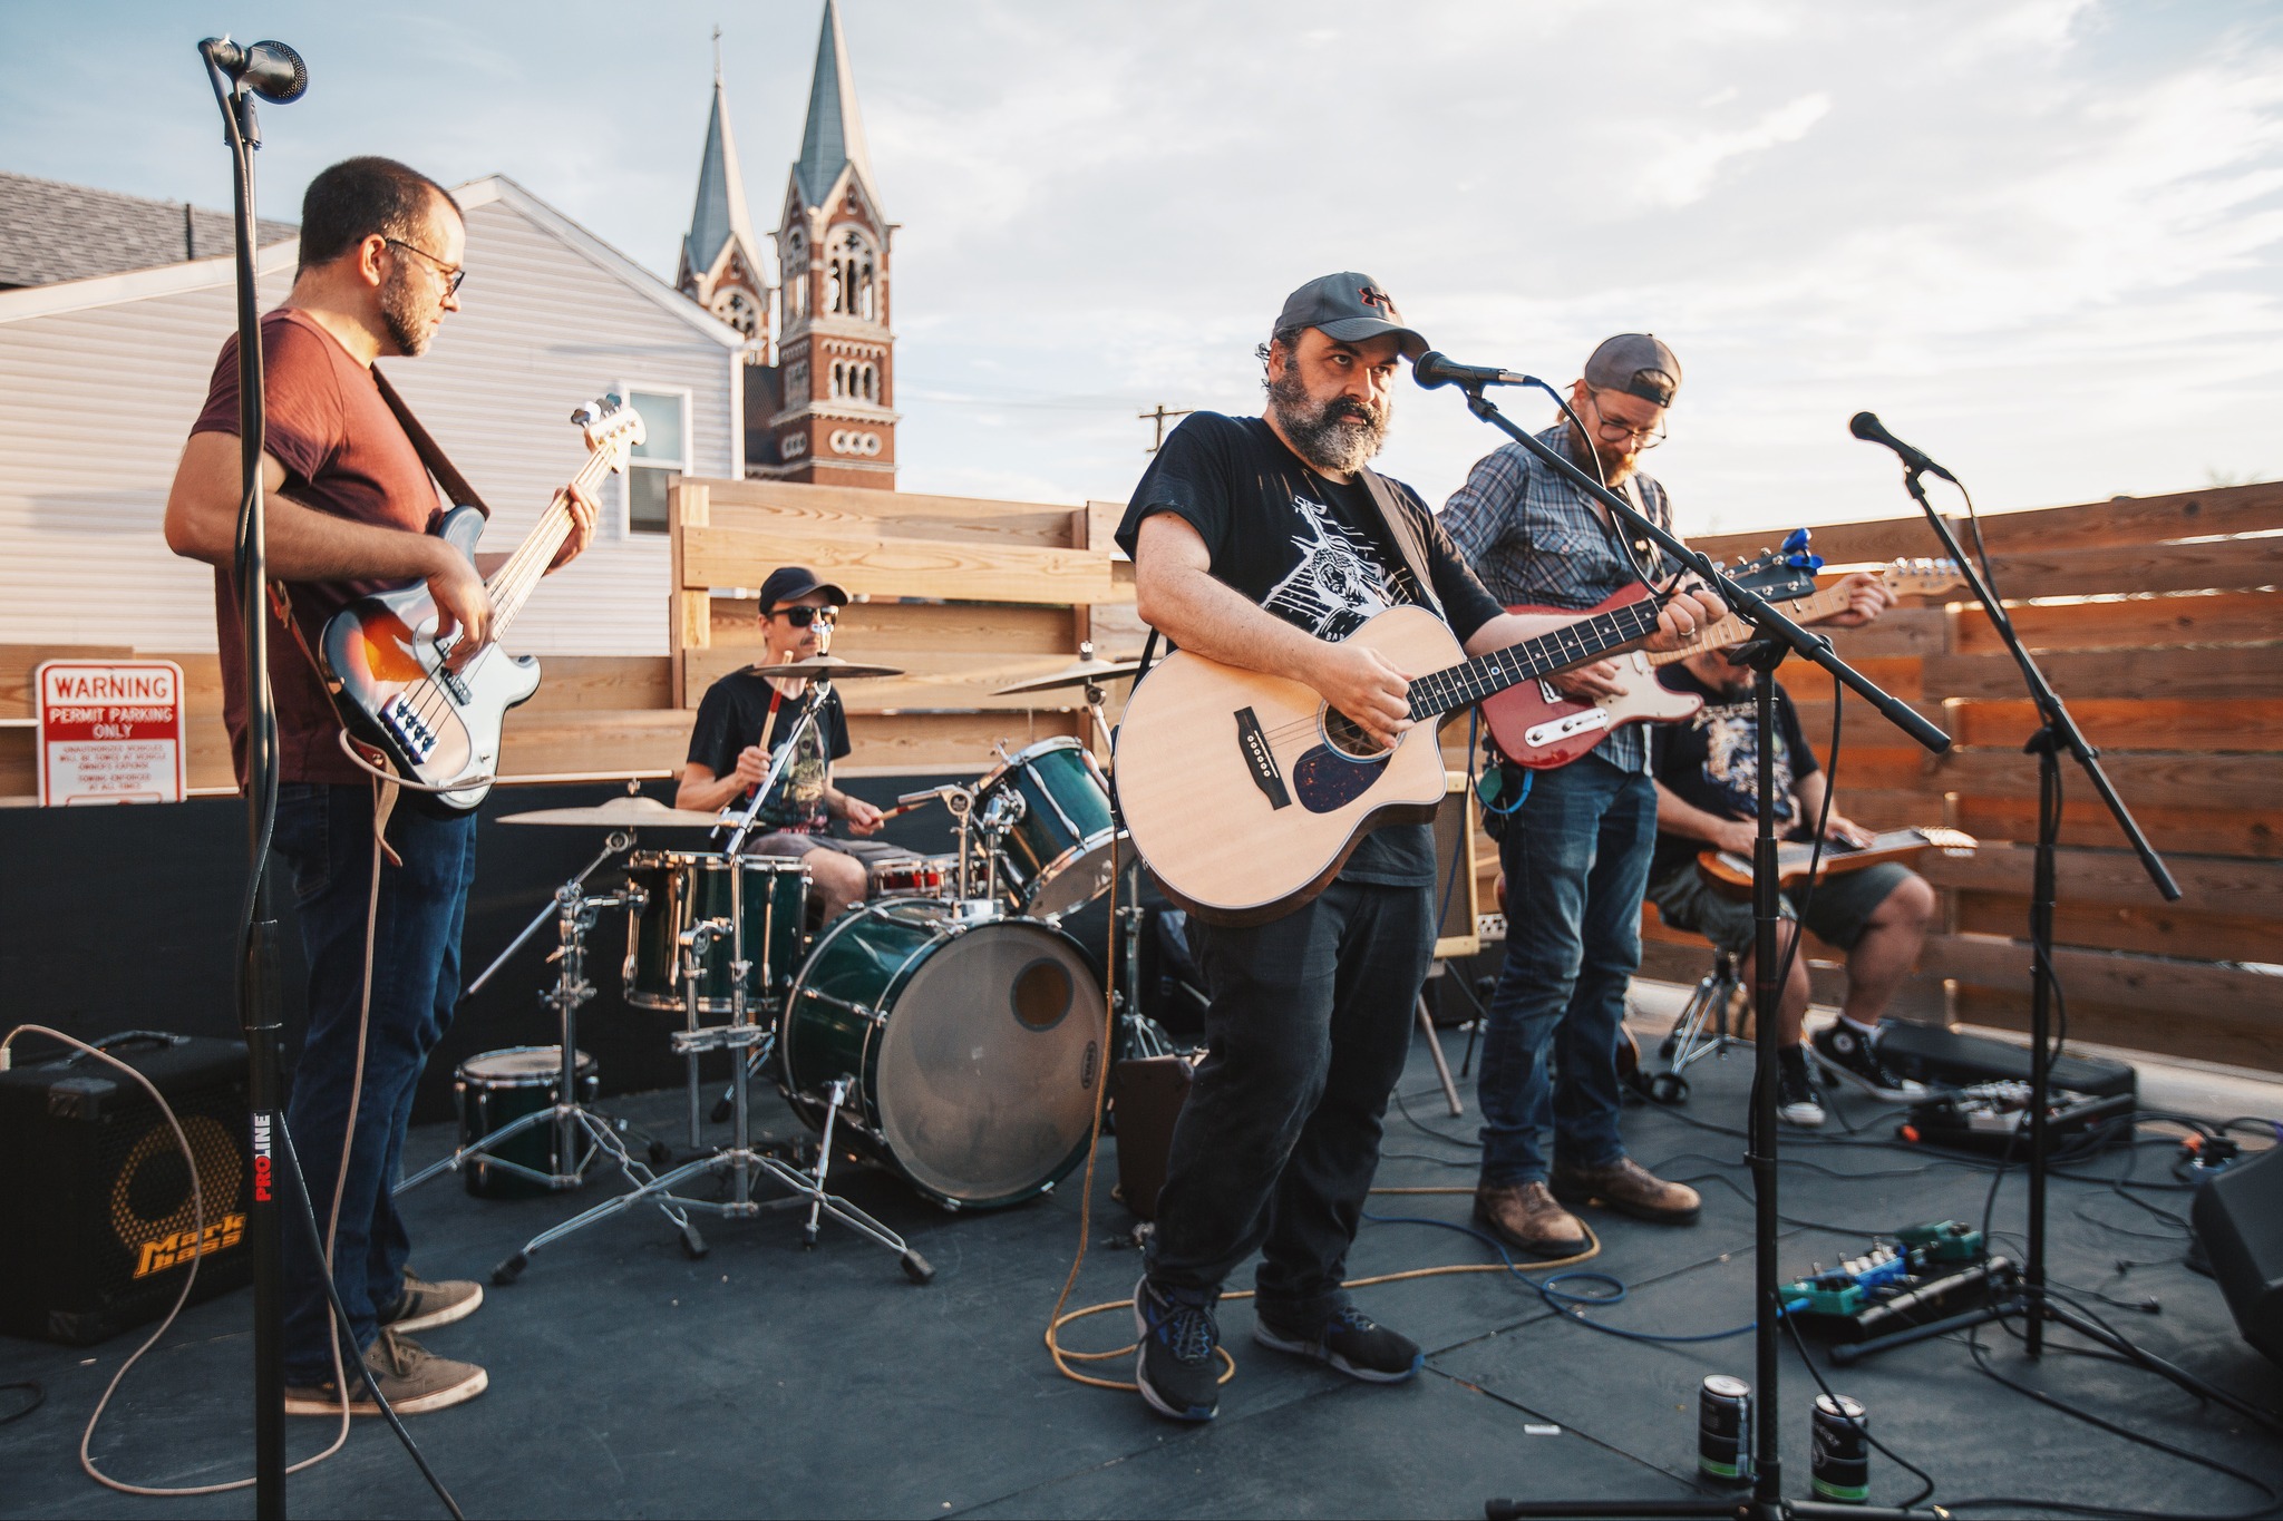
<path fill-rule="evenodd" d="M 1260 417 L 1192 413 L 1157 449 L 1119 524 L 1135 550 L 1142 520 L 1173 513 L 1212 554 L 1212 577 L 1317 639 L 1347 639 L 1397 604 L 1434 607 L 1463 643 L 1504 609 L 1482 588 L 1418 493 L 1388 481 L 1427 550 L 1434 593 L 1422 595 L 1363 481 L 1331 481 L 1292 454 Z M 1374 830 L 1340 871 L 1352 882 L 1431 887 L 1425 823 Z"/>

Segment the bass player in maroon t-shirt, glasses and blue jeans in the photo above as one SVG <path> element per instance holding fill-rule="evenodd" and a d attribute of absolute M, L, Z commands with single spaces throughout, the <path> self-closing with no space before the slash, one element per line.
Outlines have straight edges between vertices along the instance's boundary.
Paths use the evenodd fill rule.
<path fill-rule="evenodd" d="M 418 356 L 459 310 L 463 249 L 459 205 L 441 185 L 384 157 L 345 160 L 310 180 L 301 267 L 285 306 L 263 317 L 267 561 L 292 611 L 290 625 L 269 613 L 281 755 L 274 851 L 292 882 L 308 958 L 308 1038 L 285 1122 L 317 1225 L 336 1222 L 333 1282 L 349 1311 L 345 1329 L 381 1393 L 406 1416 L 459 1405 L 486 1384 L 477 1364 L 436 1357 L 409 1336 L 461 1320 L 484 1295 L 470 1282 L 418 1277 L 390 1202 L 413 1085 L 459 999 L 475 814 L 406 805 L 388 816 L 363 1017 L 377 789 L 340 743 L 317 645 L 329 618 L 361 595 L 420 581 L 441 632 L 459 634 L 452 666 L 466 668 L 491 643 L 495 609 L 484 575 L 493 566 L 436 536 L 447 504 L 372 367 L 377 358 Z M 233 337 L 176 467 L 167 545 L 215 566 L 224 721 L 244 784 L 244 629 L 231 572 L 237 499 Z M 568 513 L 546 563 L 557 570 L 594 536 L 594 502 L 571 488 L 550 511 Z M 356 1129 L 342 1158 L 352 1108 Z M 345 1391 L 333 1377 L 322 1261 L 299 1231 L 288 1229 L 285 1241 L 285 1409 L 338 1414 Z M 347 1377 L 347 1405 L 352 1414 L 379 1414 L 356 1375 Z"/>

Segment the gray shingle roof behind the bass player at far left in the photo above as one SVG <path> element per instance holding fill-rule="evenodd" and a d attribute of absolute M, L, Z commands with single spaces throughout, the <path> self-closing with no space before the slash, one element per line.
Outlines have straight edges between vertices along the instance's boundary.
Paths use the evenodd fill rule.
<path fill-rule="evenodd" d="M 267 249 L 295 233 L 297 223 L 265 217 L 258 239 Z M 0 290 L 87 280 L 228 251 L 228 212 L 0 171 Z"/>

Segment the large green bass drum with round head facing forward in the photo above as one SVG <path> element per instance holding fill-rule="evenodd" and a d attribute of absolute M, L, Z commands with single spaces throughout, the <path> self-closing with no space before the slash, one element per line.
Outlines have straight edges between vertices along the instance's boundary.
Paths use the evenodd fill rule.
<path fill-rule="evenodd" d="M 779 1074 L 824 1124 L 947 1209 L 1014 1204 L 1084 1161 L 1103 1083 L 1103 985 L 1039 919 L 868 903 L 817 937 L 785 999 Z"/>

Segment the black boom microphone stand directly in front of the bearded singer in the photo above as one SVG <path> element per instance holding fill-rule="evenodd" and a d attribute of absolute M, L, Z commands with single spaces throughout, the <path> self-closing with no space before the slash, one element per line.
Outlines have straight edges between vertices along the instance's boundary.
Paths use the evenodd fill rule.
<path fill-rule="evenodd" d="M 1504 1521 L 1507 1516 L 1746 1516 L 1767 1521 L 1783 1516 L 1854 1516 L 1858 1521 L 1874 1516 L 1931 1516 L 1936 1512 L 1874 1505 L 1826 1505 L 1817 1500 L 1788 1500 L 1783 1496 L 1783 1443 L 1776 1400 L 1781 1382 L 1781 1341 L 1776 1323 L 1783 1316 L 1783 1300 L 1778 1298 L 1781 1275 L 1776 1272 L 1776 1234 L 1781 1227 L 1776 1215 L 1776 1067 L 1781 1060 L 1781 1035 L 1776 1033 L 1776 1024 L 1783 983 L 1778 981 L 1781 967 L 1776 953 L 1776 919 L 1781 912 L 1776 876 L 1776 782 L 1774 766 L 1765 764 L 1765 757 L 1776 748 L 1774 670 L 1785 654 L 1799 654 L 1801 659 L 1836 675 L 1849 691 L 1877 707 L 1888 723 L 1899 727 L 1927 750 L 1941 755 L 1950 748 L 1950 737 L 1920 718 L 1909 705 L 1879 691 L 1879 686 L 1874 686 L 1867 677 L 1847 666 L 1847 661 L 1831 652 L 1829 639 L 1808 634 L 1804 627 L 1769 607 L 1765 597 L 1721 575 L 1719 568 L 1715 568 L 1701 552 L 1689 550 L 1673 534 L 1651 522 L 1621 495 L 1607 490 L 1600 481 L 1573 465 L 1559 449 L 1546 445 L 1534 433 L 1518 429 L 1482 395 L 1482 383 L 1461 388 L 1466 390 L 1466 406 L 1470 413 L 1518 442 L 1587 497 L 1600 502 L 1612 513 L 1612 522 L 1619 522 L 1630 534 L 1657 545 L 1678 566 L 1694 570 L 1728 602 L 1733 611 L 1742 613 L 1753 625 L 1758 636 L 1744 645 L 1742 664 L 1753 668 L 1753 723 L 1758 727 L 1762 757 L 1756 810 L 1758 835 L 1753 837 L 1751 848 L 1753 1079 L 1749 1163 L 1753 1195 L 1756 1304 L 1753 1384 L 1760 1402 L 1753 1412 L 1756 1453 L 1751 1494 L 1733 1498 L 1701 1496 L 1673 1500 L 1489 1500 L 1484 1505 L 1484 1514 L 1491 1516 L 1491 1521 Z"/>

